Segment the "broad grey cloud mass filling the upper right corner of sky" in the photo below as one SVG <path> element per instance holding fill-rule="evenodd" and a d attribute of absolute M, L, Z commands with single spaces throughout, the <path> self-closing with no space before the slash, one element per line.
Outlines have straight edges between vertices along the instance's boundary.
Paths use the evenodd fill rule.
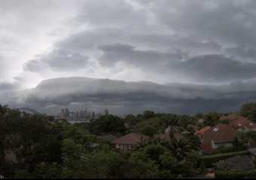
<path fill-rule="evenodd" d="M 200 39 L 214 38 L 239 46 L 254 46 L 255 14 L 248 4 L 256 1 L 161 1 L 155 3 L 160 22 L 180 33 L 195 34 Z M 166 6 L 173 7 L 170 10 Z"/>

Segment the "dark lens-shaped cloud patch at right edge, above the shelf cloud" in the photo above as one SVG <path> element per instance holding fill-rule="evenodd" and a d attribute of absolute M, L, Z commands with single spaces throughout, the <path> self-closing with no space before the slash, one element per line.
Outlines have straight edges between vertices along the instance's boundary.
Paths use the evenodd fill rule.
<path fill-rule="evenodd" d="M 239 62 L 233 58 L 225 58 L 224 55 L 200 55 L 189 58 L 175 67 L 199 81 L 221 82 L 256 77 L 256 64 Z"/>

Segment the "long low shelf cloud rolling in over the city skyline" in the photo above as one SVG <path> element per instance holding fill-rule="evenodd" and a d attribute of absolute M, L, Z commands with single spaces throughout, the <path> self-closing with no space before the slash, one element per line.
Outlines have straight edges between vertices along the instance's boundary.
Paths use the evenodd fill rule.
<path fill-rule="evenodd" d="M 73 88 L 67 89 L 68 86 Z M 41 108 L 54 104 L 56 111 L 59 111 L 59 107 L 82 104 L 82 107 L 99 109 L 110 107 L 114 113 L 142 113 L 143 110 L 173 113 L 209 110 L 227 112 L 238 110 L 249 100 L 256 100 L 255 90 L 255 80 L 223 86 L 199 86 L 72 77 L 45 80 L 35 89 L 21 92 L 18 102 L 20 105 Z"/>

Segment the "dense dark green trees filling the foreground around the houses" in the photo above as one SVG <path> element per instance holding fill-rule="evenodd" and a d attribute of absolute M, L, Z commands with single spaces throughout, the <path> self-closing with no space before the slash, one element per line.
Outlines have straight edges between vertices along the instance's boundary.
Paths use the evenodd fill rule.
<path fill-rule="evenodd" d="M 241 113 L 253 117 L 254 104 Z M 249 108 L 250 107 L 250 108 Z M 221 115 L 209 112 L 176 115 L 145 111 L 139 115 L 103 115 L 90 122 L 69 124 L 66 119 L 32 115 L 0 104 L 0 175 L 5 178 L 181 178 L 204 174 L 212 163 L 235 155 L 256 142 L 256 133 L 238 133 L 230 153 L 200 155 L 202 127 L 213 126 Z M 136 132 L 149 136 L 136 151 L 116 151 L 102 135 Z M 169 137 L 157 139 L 158 135 Z M 178 137 L 176 136 L 178 134 Z M 251 145 L 252 146 L 252 145 Z M 255 145 L 254 145 L 255 146 Z M 7 155 L 14 155 L 8 160 Z M 216 172 L 217 177 L 254 177 L 254 171 Z"/>

